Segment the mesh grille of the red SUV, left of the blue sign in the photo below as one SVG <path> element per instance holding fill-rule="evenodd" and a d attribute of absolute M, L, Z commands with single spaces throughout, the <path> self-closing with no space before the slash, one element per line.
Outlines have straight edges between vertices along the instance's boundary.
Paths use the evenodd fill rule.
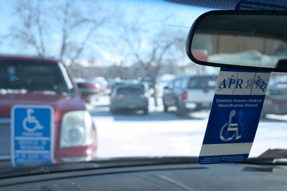
<path fill-rule="evenodd" d="M 0 159 L 1 156 L 11 155 L 10 124 L 0 123 Z"/>

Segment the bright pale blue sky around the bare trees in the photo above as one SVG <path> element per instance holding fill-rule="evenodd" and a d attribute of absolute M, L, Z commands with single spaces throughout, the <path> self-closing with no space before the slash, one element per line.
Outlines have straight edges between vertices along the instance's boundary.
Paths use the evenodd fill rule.
<path fill-rule="evenodd" d="M 1 28 L 0 28 L 0 35 L 1 35 L 1 51 L 0 54 L 29 54 L 33 55 L 35 54 L 35 50 L 33 48 L 19 48 L 19 47 L 13 47 L 11 46 L 10 41 L 7 41 L 3 36 L 7 35 L 9 33 L 9 29 L 11 26 L 15 25 L 17 23 L 17 17 L 13 16 L 13 13 L 15 12 L 15 5 L 17 4 L 18 0 L 10 0 L 10 1 L 1 1 L 0 6 L 0 18 L 1 18 Z M 33 3 L 37 1 L 32 1 Z M 49 2 L 49 1 L 46 1 Z M 57 1 L 54 1 L 54 3 Z M 61 1 L 63 3 L 64 1 Z M 157 1 L 133 1 L 133 0 L 126 0 L 126 1 L 104 1 L 104 4 L 106 6 L 112 5 L 113 3 L 117 3 L 119 5 L 120 11 L 122 11 L 126 16 L 126 22 L 129 22 L 129 20 L 132 20 L 134 15 L 139 15 L 139 7 L 141 9 L 144 9 L 144 16 L 140 17 L 140 20 L 145 22 L 149 22 L 149 20 L 157 20 L 160 21 L 162 25 L 166 26 L 167 29 L 169 27 L 168 25 L 180 25 L 180 26 L 187 26 L 190 27 L 193 23 L 193 21 L 202 13 L 208 11 L 207 9 L 195 9 L 193 7 L 186 7 L 181 5 L 174 5 L 162 2 L 160 0 Z M 112 6 L 111 6 L 112 7 Z M 164 18 L 169 14 L 169 19 L 165 20 Z M 49 18 L 47 18 L 49 20 Z M 139 21 L 139 22 L 141 22 Z M 148 25 L 148 33 L 142 34 L 143 39 L 146 40 L 149 38 L 148 35 L 151 35 L 153 31 L 155 31 L 154 25 Z M 173 27 L 177 28 L 177 27 Z M 100 29 L 105 34 L 110 34 L 112 37 L 114 35 L 115 38 L 118 38 L 114 33 L 110 33 L 109 29 L 103 28 Z M 117 30 L 117 29 L 115 29 Z M 84 31 L 84 29 L 83 29 Z M 182 31 L 186 32 L 186 35 L 189 31 L 188 28 L 182 29 Z M 52 34 L 54 40 L 49 40 L 49 44 L 51 46 L 48 47 L 49 55 L 56 57 L 58 56 L 58 50 L 60 46 L 60 35 L 55 33 Z M 81 39 L 81 33 L 78 34 L 76 38 Z M 104 39 L 104 38 L 103 38 Z M 101 40 L 103 40 L 101 39 Z M 106 41 L 109 41 L 109 38 L 106 38 Z M 108 45 L 109 43 L 101 43 L 90 46 L 88 50 L 86 51 L 87 54 L 94 54 L 98 62 L 104 62 L 104 63 L 113 63 L 113 62 L 120 62 L 121 60 L 129 60 L 130 62 L 133 61 L 133 58 L 128 58 L 126 55 L 123 54 L 123 47 L 117 47 L 114 46 L 111 48 L 111 45 Z M 146 42 L 148 44 L 148 42 Z M 123 44 L 121 44 L 123 46 Z M 111 51 L 113 49 L 113 51 Z M 92 53 L 91 53 L 92 52 Z M 88 55 L 82 55 L 83 60 L 87 60 Z"/>

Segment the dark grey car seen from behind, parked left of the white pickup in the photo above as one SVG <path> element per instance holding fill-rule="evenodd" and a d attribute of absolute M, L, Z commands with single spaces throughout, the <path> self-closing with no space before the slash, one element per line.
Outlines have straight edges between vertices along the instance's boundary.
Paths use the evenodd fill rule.
<path fill-rule="evenodd" d="M 123 109 L 144 110 L 148 113 L 148 94 L 138 85 L 117 85 L 110 95 L 110 110 L 113 113 Z"/>

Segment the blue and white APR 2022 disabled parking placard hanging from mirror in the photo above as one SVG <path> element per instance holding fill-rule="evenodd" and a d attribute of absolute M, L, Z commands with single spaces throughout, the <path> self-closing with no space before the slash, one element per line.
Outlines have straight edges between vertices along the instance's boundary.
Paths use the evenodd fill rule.
<path fill-rule="evenodd" d="M 271 72 L 221 68 L 199 164 L 243 162 L 259 123 Z"/>

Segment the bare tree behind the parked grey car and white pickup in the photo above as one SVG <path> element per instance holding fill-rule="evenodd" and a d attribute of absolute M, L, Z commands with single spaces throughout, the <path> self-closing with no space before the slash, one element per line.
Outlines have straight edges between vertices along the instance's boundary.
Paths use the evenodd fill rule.
<path fill-rule="evenodd" d="M 128 45 L 135 62 L 144 70 L 146 77 L 151 78 L 157 106 L 156 78 L 163 67 L 170 65 L 170 60 L 177 60 L 178 53 L 181 56 L 185 54 L 186 36 L 179 29 L 170 29 L 166 25 L 152 28 L 156 32 L 151 34 L 149 28 L 153 26 L 148 25 L 153 23 L 139 23 L 138 20 L 136 18 L 131 25 L 123 27 L 122 39 Z"/>

